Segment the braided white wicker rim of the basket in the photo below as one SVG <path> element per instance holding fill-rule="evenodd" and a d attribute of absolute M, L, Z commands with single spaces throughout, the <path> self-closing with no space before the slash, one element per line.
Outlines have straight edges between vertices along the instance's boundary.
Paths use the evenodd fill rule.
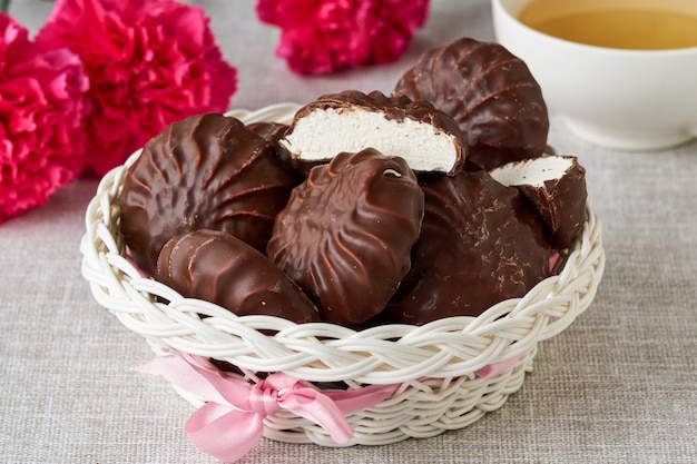
<path fill-rule="evenodd" d="M 227 115 L 245 124 L 288 124 L 298 108 L 277 103 Z M 101 179 L 87 208 L 80 244 L 82 276 L 96 300 L 150 344 L 227 361 L 249 372 L 356 384 L 473 375 L 488 365 L 523 356 L 568 327 L 590 306 L 605 268 L 601 223 L 589 200 L 588 220 L 562 270 L 522 298 L 500 302 L 478 317 L 363 330 L 330 323 L 298 325 L 273 316 L 240 317 L 212 303 L 181 297 L 141 276 L 128 259 L 118 233 L 118 197 L 124 176 L 139 154 Z M 265 335 L 268 330 L 275 335 Z"/>

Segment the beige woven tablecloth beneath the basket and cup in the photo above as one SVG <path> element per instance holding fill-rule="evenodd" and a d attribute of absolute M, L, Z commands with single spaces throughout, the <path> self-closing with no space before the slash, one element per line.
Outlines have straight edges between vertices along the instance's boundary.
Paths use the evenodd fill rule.
<path fill-rule="evenodd" d="M 397 63 L 300 78 L 273 56 L 277 31 L 252 0 L 198 1 L 239 70 L 234 106 L 310 100 L 345 88 L 390 90 L 422 50 L 493 38 L 485 0 L 432 0 Z M 36 29 L 50 4 L 16 0 Z M 507 404 L 426 440 L 348 448 L 264 440 L 242 463 L 693 463 L 697 460 L 697 144 L 664 152 L 588 146 L 552 119 L 550 142 L 580 157 L 602 218 L 607 265 L 591 307 L 540 344 Z M 96 184 L 0 226 L 0 461 L 213 463 L 183 425 L 193 406 L 129 368 L 150 348 L 92 298 L 80 275 L 84 217 Z"/>

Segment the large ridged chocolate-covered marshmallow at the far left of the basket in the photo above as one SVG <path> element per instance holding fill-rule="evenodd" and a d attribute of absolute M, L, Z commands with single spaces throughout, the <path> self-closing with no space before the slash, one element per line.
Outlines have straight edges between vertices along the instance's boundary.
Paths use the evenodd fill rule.
<path fill-rule="evenodd" d="M 294 186 L 271 145 L 223 115 L 168 126 L 128 169 L 120 195 L 120 230 L 140 268 L 188 230 L 225 230 L 264 250 L 276 213 Z"/>

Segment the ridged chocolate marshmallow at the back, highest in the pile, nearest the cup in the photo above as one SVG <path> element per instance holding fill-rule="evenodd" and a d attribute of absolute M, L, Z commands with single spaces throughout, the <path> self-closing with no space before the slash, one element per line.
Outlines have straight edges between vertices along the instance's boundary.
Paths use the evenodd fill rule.
<path fill-rule="evenodd" d="M 462 130 L 468 170 L 544 151 L 547 105 L 528 66 L 498 43 L 462 38 L 423 53 L 393 95 L 425 99 Z"/>

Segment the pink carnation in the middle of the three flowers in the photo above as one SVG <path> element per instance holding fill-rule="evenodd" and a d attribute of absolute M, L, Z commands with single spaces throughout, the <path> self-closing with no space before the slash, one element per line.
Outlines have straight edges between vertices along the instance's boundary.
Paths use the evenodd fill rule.
<path fill-rule="evenodd" d="M 86 172 L 102 176 L 167 125 L 223 112 L 237 89 L 200 7 L 57 0 L 37 43 L 67 47 L 90 78 Z"/>

